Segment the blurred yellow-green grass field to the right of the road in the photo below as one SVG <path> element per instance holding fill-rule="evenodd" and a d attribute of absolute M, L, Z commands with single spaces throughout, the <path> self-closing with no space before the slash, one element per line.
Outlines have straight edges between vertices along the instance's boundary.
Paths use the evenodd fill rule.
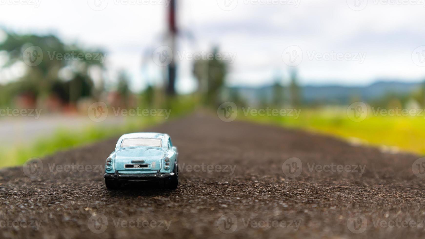
<path fill-rule="evenodd" d="M 400 150 L 425 155 L 425 119 L 423 116 L 372 115 L 364 121 L 354 122 L 348 118 L 346 110 L 303 109 L 297 119 L 283 116 L 245 117 L 244 115 L 239 118 L 334 135 L 352 143 L 378 146 L 392 152 Z"/>

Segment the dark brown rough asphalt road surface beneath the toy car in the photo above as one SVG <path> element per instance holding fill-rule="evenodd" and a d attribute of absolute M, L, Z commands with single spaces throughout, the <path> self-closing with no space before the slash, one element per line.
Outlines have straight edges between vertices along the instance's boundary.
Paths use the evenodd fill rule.
<path fill-rule="evenodd" d="M 178 147 L 178 189 L 138 183 L 107 190 L 99 165 L 115 138 L 59 152 L 42 160 L 42 171 L 25 167 L 31 177 L 23 167 L 1 171 L 0 237 L 425 236 L 425 179 L 412 171 L 423 166 L 417 155 L 216 115 L 148 131 L 168 133 Z"/>

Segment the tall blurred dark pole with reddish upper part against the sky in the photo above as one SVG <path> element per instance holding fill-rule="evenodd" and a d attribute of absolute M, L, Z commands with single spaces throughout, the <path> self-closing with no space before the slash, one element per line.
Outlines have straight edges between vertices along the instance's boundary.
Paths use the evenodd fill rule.
<path fill-rule="evenodd" d="M 170 34 L 170 48 L 173 51 L 173 59 L 168 65 L 168 85 L 167 85 L 167 95 L 175 95 L 175 83 L 176 83 L 176 35 L 177 35 L 177 26 L 176 26 L 176 0 L 170 0 L 170 6 L 168 6 L 168 31 Z"/>

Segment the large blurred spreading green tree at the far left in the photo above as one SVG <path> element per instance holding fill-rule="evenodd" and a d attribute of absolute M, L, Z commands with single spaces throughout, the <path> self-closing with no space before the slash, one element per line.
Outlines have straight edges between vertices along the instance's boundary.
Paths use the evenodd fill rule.
<path fill-rule="evenodd" d="M 25 75 L 6 86 L 11 90 L 9 98 L 20 94 L 47 98 L 54 94 L 62 99 L 63 103 L 74 104 L 79 98 L 92 95 L 93 82 L 88 70 L 95 65 L 102 68 L 101 59 L 105 56 L 102 51 L 91 51 L 99 55 L 97 57 L 92 55 L 89 58 L 85 57 L 86 51 L 75 45 L 66 45 L 54 35 L 20 35 L 5 32 L 7 37 L 0 43 L 0 51 L 6 51 L 8 62 L 3 67 L 27 63 Z M 63 57 L 65 54 L 71 57 L 65 59 Z M 25 59 L 27 55 L 29 59 Z M 34 63 L 37 59 L 41 59 L 40 57 L 42 57 L 40 64 L 34 66 L 28 64 L 28 60 Z M 69 78 L 62 79 L 59 76 L 62 69 L 71 72 Z"/>

